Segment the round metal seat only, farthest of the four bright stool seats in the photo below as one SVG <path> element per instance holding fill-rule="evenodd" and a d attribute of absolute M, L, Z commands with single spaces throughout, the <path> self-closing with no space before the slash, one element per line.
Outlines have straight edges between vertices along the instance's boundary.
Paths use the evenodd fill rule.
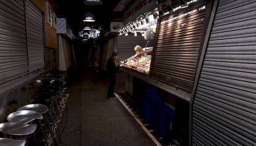
<path fill-rule="evenodd" d="M 46 113 L 48 111 L 48 107 L 43 104 L 29 104 L 29 105 L 24 105 L 23 107 L 20 107 L 19 110 L 33 110 L 38 113 Z"/>

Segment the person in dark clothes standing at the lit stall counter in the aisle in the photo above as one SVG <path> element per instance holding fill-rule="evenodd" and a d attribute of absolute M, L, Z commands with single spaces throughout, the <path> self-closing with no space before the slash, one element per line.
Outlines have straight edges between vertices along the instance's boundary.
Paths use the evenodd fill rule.
<path fill-rule="evenodd" d="M 118 53 L 113 52 L 111 57 L 108 59 L 107 70 L 109 73 L 109 86 L 108 86 L 108 98 L 113 99 L 114 97 L 114 85 L 116 84 L 116 73 L 119 69 Z"/>

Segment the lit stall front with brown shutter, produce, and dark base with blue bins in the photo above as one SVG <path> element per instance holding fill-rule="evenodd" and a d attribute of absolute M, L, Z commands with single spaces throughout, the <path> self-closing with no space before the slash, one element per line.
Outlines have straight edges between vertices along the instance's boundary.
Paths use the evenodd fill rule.
<path fill-rule="evenodd" d="M 156 4 L 119 29 L 124 37 L 140 30 L 147 41 L 131 47 L 135 55 L 121 66 L 135 110 L 164 141 L 188 145 L 189 102 L 213 1 L 172 2 Z"/>

